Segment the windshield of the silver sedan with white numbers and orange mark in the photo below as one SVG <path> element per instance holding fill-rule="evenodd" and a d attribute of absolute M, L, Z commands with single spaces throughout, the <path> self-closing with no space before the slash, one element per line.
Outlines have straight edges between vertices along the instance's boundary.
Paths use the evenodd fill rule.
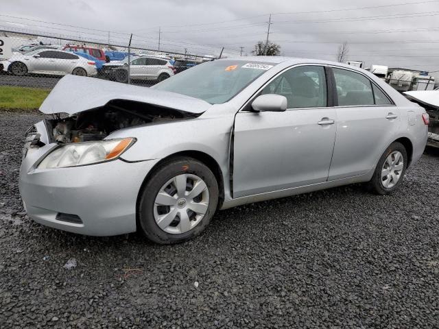
<path fill-rule="evenodd" d="M 154 88 L 221 104 L 235 97 L 273 66 L 246 60 L 216 60 L 178 73 Z"/>

